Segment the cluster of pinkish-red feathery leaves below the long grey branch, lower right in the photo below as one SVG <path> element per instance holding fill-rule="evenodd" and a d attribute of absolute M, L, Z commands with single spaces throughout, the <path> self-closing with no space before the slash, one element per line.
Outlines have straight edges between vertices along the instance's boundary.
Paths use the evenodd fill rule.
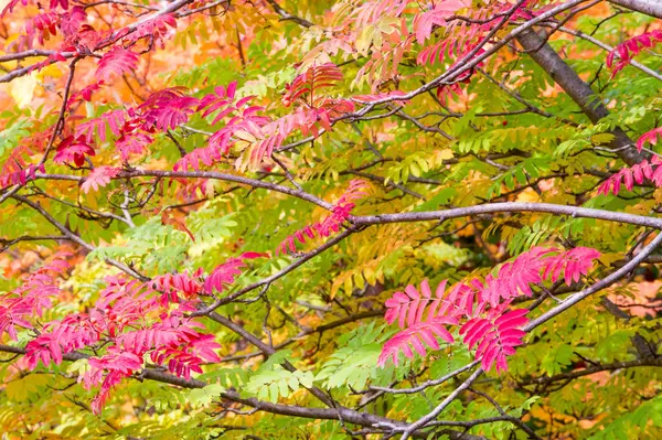
<path fill-rule="evenodd" d="M 489 371 L 496 365 L 498 372 L 504 371 L 506 357 L 522 344 L 526 333 L 521 329 L 528 322 L 527 309 L 505 312 L 512 299 L 531 296 L 531 285 L 556 281 L 562 275 L 568 283 L 578 281 L 599 256 L 596 249 L 586 247 L 567 251 L 535 247 L 501 265 L 498 275 L 488 275 L 484 282 L 473 278 L 447 291 L 442 281 L 434 297 L 427 280 L 421 282 L 420 292 L 409 285 L 405 292 L 397 291 L 385 302 L 386 322 L 397 320 L 404 330 L 384 344 L 378 363 L 384 365 L 391 358 L 397 364 L 399 352 L 406 357 L 413 357 L 414 352 L 424 356 L 424 342 L 438 348 L 433 334 L 452 341 L 445 326 L 435 323 L 458 325 L 460 320 L 466 320 L 459 333 L 470 350 L 476 347 L 476 359 L 481 362 L 482 368 Z M 427 321 L 423 321 L 426 310 Z"/>

